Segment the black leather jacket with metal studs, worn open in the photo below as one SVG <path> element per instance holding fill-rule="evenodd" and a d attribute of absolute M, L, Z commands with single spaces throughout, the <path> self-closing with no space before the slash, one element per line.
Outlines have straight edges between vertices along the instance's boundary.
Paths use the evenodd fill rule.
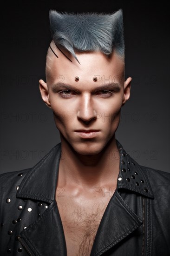
<path fill-rule="evenodd" d="M 91 256 L 170 256 L 170 174 L 140 166 L 117 141 L 120 172 Z M 55 200 L 61 143 L 33 168 L 0 175 L 0 256 L 66 256 Z"/>

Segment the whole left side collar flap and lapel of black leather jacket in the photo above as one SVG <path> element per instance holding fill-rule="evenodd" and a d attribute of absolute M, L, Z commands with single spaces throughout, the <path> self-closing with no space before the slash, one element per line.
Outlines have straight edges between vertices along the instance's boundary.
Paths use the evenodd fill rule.
<path fill-rule="evenodd" d="M 33 199 L 49 204 L 44 213 L 20 236 L 36 256 L 66 256 L 64 230 L 55 200 L 59 174 L 61 143 L 57 144 L 26 175 L 17 191 L 17 198 Z M 36 202 L 35 201 L 35 202 Z"/>

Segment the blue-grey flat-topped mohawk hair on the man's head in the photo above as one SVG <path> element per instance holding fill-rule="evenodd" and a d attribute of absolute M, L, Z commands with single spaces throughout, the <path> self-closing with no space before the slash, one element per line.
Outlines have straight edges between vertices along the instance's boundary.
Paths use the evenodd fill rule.
<path fill-rule="evenodd" d="M 106 55 L 114 49 L 124 60 L 122 9 L 111 14 L 51 10 L 49 17 L 52 40 L 56 46 L 65 47 L 77 61 L 74 49 L 78 52 L 99 50 Z"/>

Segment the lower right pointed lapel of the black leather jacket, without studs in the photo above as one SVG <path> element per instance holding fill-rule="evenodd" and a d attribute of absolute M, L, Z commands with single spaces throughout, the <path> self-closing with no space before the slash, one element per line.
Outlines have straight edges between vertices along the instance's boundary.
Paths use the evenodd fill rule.
<path fill-rule="evenodd" d="M 124 202 L 116 189 L 98 227 L 91 256 L 102 255 L 131 234 L 142 223 L 126 202 Z"/>

